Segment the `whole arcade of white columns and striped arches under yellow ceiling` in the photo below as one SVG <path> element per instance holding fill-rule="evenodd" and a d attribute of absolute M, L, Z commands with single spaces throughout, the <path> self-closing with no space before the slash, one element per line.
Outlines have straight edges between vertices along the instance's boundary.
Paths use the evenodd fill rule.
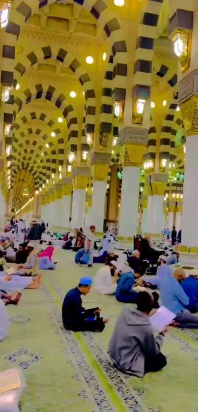
<path fill-rule="evenodd" d="M 105 220 L 124 238 L 175 224 L 183 250 L 198 247 L 198 9 L 180 3 L 12 1 L 1 221 L 101 233 Z"/>

